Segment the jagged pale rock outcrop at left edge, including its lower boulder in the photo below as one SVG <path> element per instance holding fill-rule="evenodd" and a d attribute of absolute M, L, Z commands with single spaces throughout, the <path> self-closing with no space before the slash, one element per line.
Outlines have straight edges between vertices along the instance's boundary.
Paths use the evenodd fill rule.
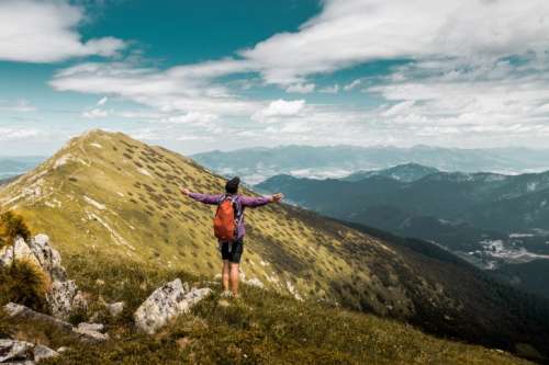
<path fill-rule="evenodd" d="M 67 319 L 74 311 L 87 308 L 86 297 L 74 281 L 67 280 L 61 256 L 49 244 L 46 235 L 37 235 L 29 241 L 18 237 L 13 244 L 0 251 L 0 266 L 11 265 L 14 261 L 32 263 L 45 274 L 51 283 L 46 300 L 55 317 Z"/>

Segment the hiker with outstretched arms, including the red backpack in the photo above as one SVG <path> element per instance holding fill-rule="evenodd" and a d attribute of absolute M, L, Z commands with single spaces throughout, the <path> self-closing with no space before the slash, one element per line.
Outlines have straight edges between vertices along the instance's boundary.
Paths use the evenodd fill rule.
<path fill-rule="evenodd" d="M 269 203 L 278 203 L 284 196 L 280 193 L 272 196 L 244 196 L 238 194 L 240 179 L 233 178 L 225 185 L 225 194 L 208 195 L 191 193 L 188 189 L 181 192 L 190 198 L 211 205 L 217 205 L 214 219 L 214 233 L 219 240 L 219 248 L 223 259 L 222 281 L 225 294 L 228 294 L 228 284 L 233 296 L 238 296 L 238 267 L 244 251 L 243 238 L 246 233 L 244 227 L 244 208 L 255 208 Z"/>

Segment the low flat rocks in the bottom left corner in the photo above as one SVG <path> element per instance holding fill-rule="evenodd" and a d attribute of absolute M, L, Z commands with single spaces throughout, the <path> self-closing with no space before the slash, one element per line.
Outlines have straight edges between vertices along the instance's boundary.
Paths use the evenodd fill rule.
<path fill-rule="evenodd" d="M 0 339 L 0 364 L 32 365 L 41 360 L 58 356 L 52 349 L 25 341 Z"/>

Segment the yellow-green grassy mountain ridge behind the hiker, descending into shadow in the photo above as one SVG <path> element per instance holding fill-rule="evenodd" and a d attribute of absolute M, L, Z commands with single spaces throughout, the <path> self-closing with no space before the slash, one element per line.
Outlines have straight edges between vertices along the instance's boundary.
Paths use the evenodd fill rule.
<path fill-rule="evenodd" d="M 64 256 L 107 254 L 211 278 L 219 271 L 214 208 L 178 190 L 219 192 L 223 185 L 222 178 L 188 158 L 96 130 L 2 186 L 0 204 L 22 214 L 33 231 L 48 233 Z M 524 316 L 527 303 L 518 294 L 509 299 L 474 271 L 412 255 L 288 205 L 250 210 L 246 220 L 246 281 L 439 334 L 511 350 L 530 343 L 545 351 L 544 308 Z"/>

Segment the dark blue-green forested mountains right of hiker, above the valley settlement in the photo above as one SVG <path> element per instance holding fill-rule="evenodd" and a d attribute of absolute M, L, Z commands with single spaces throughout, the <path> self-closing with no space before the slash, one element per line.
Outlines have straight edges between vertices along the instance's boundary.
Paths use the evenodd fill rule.
<path fill-rule="evenodd" d="M 324 215 L 437 242 L 500 277 L 530 285 L 530 262 L 549 259 L 549 172 L 448 173 L 406 164 L 341 180 L 278 175 L 257 185 Z M 530 275 L 518 275 L 522 264 Z M 536 263 L 535 267 L 547 267 Z M 549 272 L 538 272 L 549 275 Z"/>

